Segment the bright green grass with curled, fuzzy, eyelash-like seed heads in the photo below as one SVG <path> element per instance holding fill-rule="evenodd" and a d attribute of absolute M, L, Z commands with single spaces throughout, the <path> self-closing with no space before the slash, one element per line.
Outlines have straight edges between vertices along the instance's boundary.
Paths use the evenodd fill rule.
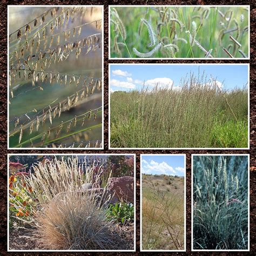
<path fill-rule="evenodd" d="M 111 58 L 248 58 L 248 6 L 111 6 Z"/>

